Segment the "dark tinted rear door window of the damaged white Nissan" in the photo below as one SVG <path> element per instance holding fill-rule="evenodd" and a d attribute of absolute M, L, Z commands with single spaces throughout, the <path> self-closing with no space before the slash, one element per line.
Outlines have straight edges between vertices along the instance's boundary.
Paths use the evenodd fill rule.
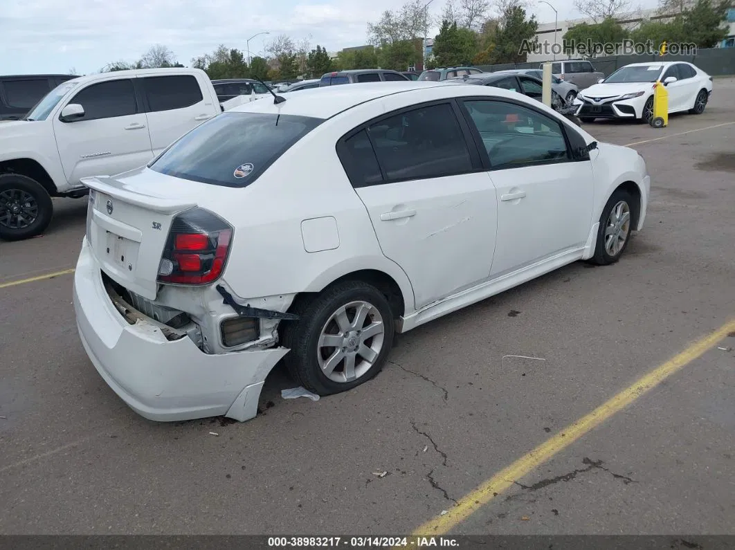
<path fill-rule="evenodd" d="M 388 180 L 439 178 L 472 170 L 470 152 L 450 104 L 395 115 L 368 131 Z"/>

